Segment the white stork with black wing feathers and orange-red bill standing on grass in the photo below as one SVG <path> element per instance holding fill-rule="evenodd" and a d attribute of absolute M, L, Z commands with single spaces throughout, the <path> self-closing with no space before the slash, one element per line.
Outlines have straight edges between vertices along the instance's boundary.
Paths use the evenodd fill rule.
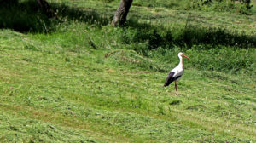
<path fill-rule="evenodd" d="M 166 82 L 164 84 L 164 87 L 170 85 L 173 81 L 175 81 L 175 89 L 177 91 L 177 81 L 180 80 L 180 78 L 183 75 L 184 72 L 184 68 L 183 68 L 183 57 L 189 59 L 189 57 L 185 54 L 183 54 L 182 52 L 179 52 L 177 54 L 178 58 L 179 58 L 179 64 L 172 69 L 171 72 L 169 72 L 168 76 L 166 77 Z M 189 59 L 190 60 L 190 59 Z"/>

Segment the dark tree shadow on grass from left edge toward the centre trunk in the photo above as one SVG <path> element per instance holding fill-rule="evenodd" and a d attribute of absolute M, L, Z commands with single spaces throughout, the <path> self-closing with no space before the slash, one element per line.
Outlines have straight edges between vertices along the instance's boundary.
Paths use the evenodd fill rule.
<path fill-rule="evenodd" d="M 109 23 L 109 18 L 103 17 L 95 9 L 79 9 L 63 3 L 50 3 L 58 18 L 48 18 L 35 0 L 10 1 L 14 3 L 0 0 L 0 28 L 2 29 L 49 33 L 55 31 L 59 23 L 67 20 L 77 20 L 96 26 L 104 26 Z"/>

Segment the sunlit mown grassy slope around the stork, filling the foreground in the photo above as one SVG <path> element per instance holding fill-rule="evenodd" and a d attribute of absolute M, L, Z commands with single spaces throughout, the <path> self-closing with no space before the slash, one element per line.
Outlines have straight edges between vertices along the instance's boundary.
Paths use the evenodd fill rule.
<path fill-rule="evenodd" d="M 191 68 L 175 93 L 162 88 L 166 73 L 111 54 L 117 40 L 110 26 L 82 23 L 50 35 L 2 30 L 0 141 L 256 141 L 255 83 Z"/>

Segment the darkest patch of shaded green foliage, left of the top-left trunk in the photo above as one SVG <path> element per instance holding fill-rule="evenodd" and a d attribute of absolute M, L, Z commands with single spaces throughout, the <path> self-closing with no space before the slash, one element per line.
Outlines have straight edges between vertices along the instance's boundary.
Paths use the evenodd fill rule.
<path fill-rule="evenodd" d="M 52 20 L 38 8 L 36 1 L 26 1 L 0 5 L 0 28 L 15 31 L 49 32 L 55 29 Z"/>

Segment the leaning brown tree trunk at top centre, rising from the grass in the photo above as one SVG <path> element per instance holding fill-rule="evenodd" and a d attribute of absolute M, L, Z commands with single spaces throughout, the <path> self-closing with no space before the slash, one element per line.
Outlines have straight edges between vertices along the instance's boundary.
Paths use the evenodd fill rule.
<path fill-rule="evenodd" d="M 121 0 L 119 3 L 119 8 L 114 14 L 112 25 L 113 26 L 124 26 L 126 16 L 131 8 L 131 3 L 133 0 Z"/>

